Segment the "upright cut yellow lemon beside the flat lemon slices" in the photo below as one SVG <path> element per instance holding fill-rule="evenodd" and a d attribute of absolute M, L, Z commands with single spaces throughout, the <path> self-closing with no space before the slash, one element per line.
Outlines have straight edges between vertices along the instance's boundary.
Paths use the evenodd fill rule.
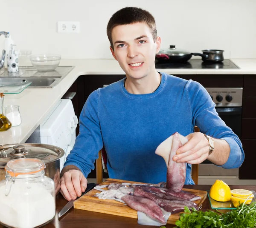
<path fill-rule="evenodd" d="M 219 202 L 230 201 L 231 190 L 230 187 L 222 180 L 216 180 L 212 185 L 209 195 L 212 199 Z"/>

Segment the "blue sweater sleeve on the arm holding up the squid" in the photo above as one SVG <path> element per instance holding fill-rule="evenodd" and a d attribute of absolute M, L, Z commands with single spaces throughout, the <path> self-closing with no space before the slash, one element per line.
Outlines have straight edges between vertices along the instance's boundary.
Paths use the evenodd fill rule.
<path fill-rule="evenodd" d="M 244 150 L 239 137 L 218 116 L 215 103 L 207 90 L 198 82 L 189 80 L 186 84 L 191 105 L 192 124 L 200 131 L 216 139 L 226 140 L 230 145 L 230 155 L 223 168 L 239 168 L 244 162 Z"/>

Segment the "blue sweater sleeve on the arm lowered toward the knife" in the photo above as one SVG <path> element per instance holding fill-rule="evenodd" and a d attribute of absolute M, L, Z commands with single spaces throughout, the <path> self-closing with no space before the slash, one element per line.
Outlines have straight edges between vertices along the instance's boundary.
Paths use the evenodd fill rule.
<path fill-rule="evenodd" d="M 75 165 L 87 178 L 94 169 L 98 152 L 103 147 L 102 134 L 98 118 L 98 91 L 88 97 L 79 118 L 79 135 L 67 160 L 66 165 Z"/>

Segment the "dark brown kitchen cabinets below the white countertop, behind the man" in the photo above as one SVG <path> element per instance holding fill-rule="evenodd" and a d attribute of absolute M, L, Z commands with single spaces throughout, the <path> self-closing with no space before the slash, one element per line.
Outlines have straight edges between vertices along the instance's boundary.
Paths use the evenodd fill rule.
<path fill-rule="evenodd" d="M 204 87 L 242 87 L 243 107 L 241 123 L 241 141 L 245 152 L 245 160 L 239 168 L 240 179 L 256 179 L 256 173 L 251 170 L 254 166 L 256 146 L 256 75 L 241 74 L 176 74 L 175 76 L 186 80 L 192 79 L 201 83 Z M 79 117 L 87 97 L 97 88 L 104 87 L 124 78 L 125 75 L 81 75 L 70 87 L 69 91 L 76 91 L 76 99 L 73 100 L 76 115 Z M 77 129 L 77 134 L 79 128 Z M 104 178 L 108 174 L 103 174 Z M 96 178 L 96 171 L 92 171 L 88 178 Z"/>

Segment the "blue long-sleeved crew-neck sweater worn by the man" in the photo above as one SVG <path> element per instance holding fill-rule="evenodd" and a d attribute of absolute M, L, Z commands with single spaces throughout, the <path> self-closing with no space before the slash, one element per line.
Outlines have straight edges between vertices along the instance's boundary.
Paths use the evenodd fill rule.
<path fill-rule="evenodd" d="M 104 145 L 110 178 L 166 181 L 166 163 L 155 154 L 157 146 L 176 131 L 183 136 L 192 133 L 195 125 L 202 133 L 229 143 L 230 156 L 221 167 L 238 168 L 244 161 L 241 141 L 220 119 L 206 89 L 165 73 L 151 94 L 128 93 L 124 79 L 93 91 L 79 122 L 80 133 L 64 166 L 76 165 L 85 177 Z M 194 184 L 190 164 L 185 184 Z"/>

